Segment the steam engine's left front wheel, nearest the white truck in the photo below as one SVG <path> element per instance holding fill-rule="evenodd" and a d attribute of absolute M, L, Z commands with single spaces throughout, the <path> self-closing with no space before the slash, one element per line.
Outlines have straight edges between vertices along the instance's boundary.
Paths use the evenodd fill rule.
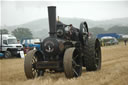
<path fill-rule="evenodd" d="M 39 60 L 39 55 L 36 54 L 36 50 L 31 50 L 27 53 L 24 61 L 24 71 L 28 79 L 43 76 L 44 70 L 36 68 L 36 63 Z"/>

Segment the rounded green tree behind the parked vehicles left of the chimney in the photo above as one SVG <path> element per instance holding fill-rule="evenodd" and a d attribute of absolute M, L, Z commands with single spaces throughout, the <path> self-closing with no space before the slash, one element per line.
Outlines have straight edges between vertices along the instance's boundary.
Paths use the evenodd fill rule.
<path fill-rule="evenodd" d="M 28 28 L 17 28 L 12 31 L 12 34 L 19 40 L 23 38 L 33 38 L 33 34 Z"/>

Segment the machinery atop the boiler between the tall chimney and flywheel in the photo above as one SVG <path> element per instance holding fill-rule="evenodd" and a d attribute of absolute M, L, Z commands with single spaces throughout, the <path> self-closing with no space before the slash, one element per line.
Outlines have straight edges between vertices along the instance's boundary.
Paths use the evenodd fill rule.
<path fill-rule="evenodd" d="M 61 21 L 56 23 L 56 34 L 58 38 L 65 40 L 78 41 L 79 29 L 70 25 L 63 24 Z"/>

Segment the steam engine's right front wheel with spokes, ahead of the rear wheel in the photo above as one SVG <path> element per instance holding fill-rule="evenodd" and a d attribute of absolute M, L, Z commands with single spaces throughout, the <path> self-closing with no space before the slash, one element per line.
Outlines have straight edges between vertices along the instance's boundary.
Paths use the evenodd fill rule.
<path fill-rule="evenodd" d="M 82 73 L 82 60 L 75 48 L 69 48 L 64 54 L 64 72 L 67 78 L 79 77 Z"/>

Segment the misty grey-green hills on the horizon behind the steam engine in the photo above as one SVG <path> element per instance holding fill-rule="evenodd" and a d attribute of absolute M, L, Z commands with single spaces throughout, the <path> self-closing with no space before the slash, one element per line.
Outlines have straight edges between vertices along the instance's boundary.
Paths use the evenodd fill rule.
<path fill-rule="evenodd" d="M 60 17 L 60 21 L 62 21 L 65 24 L 73 24 L 73 26 L 78 28 L 79 28 L 80 22 L 87 21 L 89 28 L 100 27 L 100 28 L 104 28 L 105 30 L 115 25 L 128 26 L 128 17 L 111 19 L 111 20 L 102 20 L 102 21 L 93 21 L 93 20 L 82 19 L 82 18 L 61 18 Z M 45 36 L 48 36 L 49 25 L 48 25 L 47 18 L 38 19 L 35 21 L 21 24 L 21 25 L 9 26 L 7 27 L 7 29 L 9 31 L 12 31 L 18 27 L 29 28 L 32 31 L 34 37 L 43 38 Z"/>

